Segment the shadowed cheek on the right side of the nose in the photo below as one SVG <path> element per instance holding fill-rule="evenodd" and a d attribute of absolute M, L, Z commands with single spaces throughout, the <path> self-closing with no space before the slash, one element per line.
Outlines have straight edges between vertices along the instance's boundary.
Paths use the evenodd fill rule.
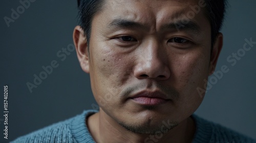
<path fill-rule="evenodd" d="M 189 54 L 178 59 L 178 68 L 173 70 L 174 81 L 183 95 L 191 95 L 207 79 L 209 59 L 204 54 Z"/>

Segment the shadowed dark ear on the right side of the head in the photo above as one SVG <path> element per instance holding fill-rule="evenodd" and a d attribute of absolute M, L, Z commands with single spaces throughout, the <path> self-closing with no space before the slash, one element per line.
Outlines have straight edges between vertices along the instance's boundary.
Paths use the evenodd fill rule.
<path fill-rule="evenodd" d="M 209 75 L 211 75 L 215 71 L 222 46 L 223 46 L 223 34 L 219 33 L 217 35 L 214 47 L 212 47 L 212 51 L 211 51 L 211 58 L 210 58 L 210 65 L 209 65 Z"/>

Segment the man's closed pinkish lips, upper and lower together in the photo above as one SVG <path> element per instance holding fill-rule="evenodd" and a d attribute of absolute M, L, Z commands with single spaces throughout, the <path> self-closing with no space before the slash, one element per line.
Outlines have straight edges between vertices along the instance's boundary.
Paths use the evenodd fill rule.
<path fill-rule="evenodd" d="M 131 97 L 131 99 L 141 105 L 154 106 L 168 102 L 170 99 L 161 92 L 140 92 Z"/>

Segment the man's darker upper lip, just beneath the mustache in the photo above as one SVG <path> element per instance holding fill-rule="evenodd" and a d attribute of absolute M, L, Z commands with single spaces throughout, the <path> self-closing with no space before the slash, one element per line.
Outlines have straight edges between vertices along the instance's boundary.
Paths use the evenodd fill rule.
<path fill-rule="evenodd" d="M 141 91 L 135 95 L 133 95 L 131 98 L 138 98 L 138 97 L 148 97 L 148 98 L 160 98 L 164 100 L 168 100 L 168 97 L 159 91 Z"/>

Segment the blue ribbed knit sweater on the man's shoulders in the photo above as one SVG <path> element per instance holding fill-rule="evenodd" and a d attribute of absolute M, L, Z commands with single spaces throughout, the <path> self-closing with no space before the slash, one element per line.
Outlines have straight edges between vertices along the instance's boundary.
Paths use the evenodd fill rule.
<path fill-rule="evenodd" d="M 11 141 L 11 143 L 94 143 L 94 140 L 88 131 L 85 119 L 95 112 L 97 111 L 86 110 L 81 115 L 19 137 L 14 141 Z M 196 122 L 196 133 L 193 143 L 256 143 L 255 140 L 249 137 L 243 136 L 218 124 L 208 122 L 196 115 L 193 115 L 192 117 Z"/>

